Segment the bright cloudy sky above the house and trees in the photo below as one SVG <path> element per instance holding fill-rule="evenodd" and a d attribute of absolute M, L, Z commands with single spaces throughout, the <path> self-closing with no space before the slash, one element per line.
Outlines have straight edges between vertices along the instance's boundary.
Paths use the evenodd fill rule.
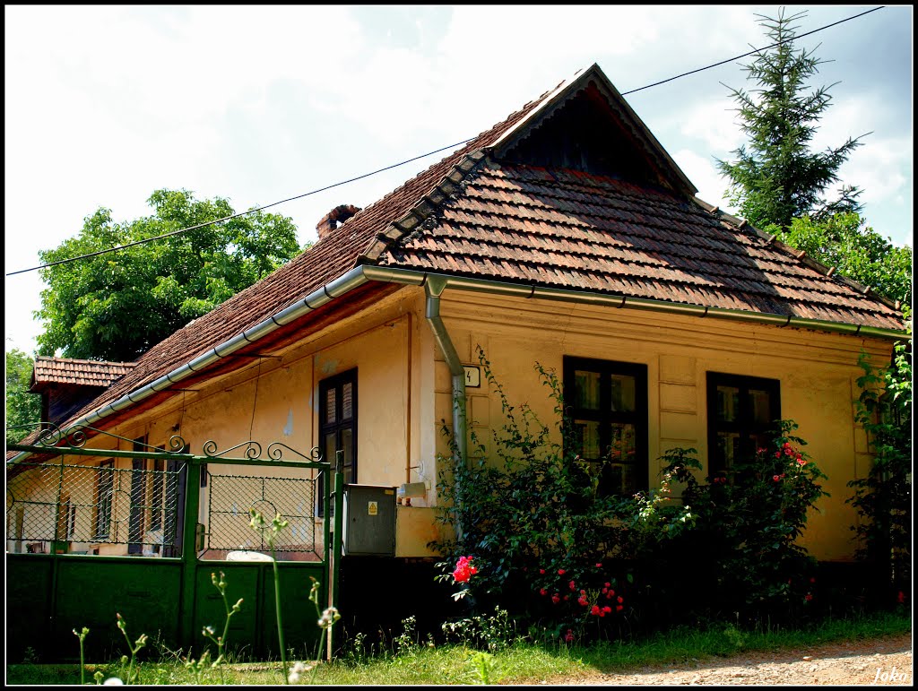
<path fill-rule="evenodd" d="M 806 10 L 799 33 L 876 6 Z M 778 6 L 5 6 L 5 273 L 84 217 L 149 215 L 156 189 L 237 211 L 475 136 L 593 62 L 622 93 L 767 45 Z M 870 132 L 842 169 L 865 216 L 912 245 L 912 7 L 800 39 L 834 84 L 815 148 Z M 625 98 L 699 196 L 729 209 L 715 158 L 744 139 L 728 87 L 742 61 Z M 837 83 L 837 84 L 835 84 Z M 270 209 L 299 240 L 446 155 Z M 38 272 L 5 276 L 6 350 L 32 352 Z"/>

